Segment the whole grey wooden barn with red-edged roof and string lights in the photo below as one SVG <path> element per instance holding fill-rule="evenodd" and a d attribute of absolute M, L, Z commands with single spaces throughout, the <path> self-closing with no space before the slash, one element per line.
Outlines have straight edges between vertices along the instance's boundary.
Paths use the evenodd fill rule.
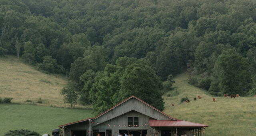
<path fill-rule="evenodd" d="M 172 118 L 140 100 L 130 96 L 102 114 L 60 125 L 63 136 L 202 136 L 205 124 Z"/>

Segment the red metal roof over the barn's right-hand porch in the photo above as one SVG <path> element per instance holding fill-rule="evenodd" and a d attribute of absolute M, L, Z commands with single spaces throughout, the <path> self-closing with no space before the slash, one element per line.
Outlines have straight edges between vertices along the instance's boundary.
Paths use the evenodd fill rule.
<path fill-rule="evenodd" d="M 208 127 L 205 124 L 189 122 L 184 120 L 154 120 L 149 119 L 149 125 L 152 127 Z"/>

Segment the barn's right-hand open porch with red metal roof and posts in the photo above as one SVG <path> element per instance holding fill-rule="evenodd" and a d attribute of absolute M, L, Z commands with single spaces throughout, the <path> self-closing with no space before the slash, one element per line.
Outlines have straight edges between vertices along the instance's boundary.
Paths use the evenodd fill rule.
<path fill-rule="evenodd" d="M 208 127 L 205 124 L 184 120 L 150 119 L 149 124 L 157 136 L 204 136 L 204 128 Z"/>

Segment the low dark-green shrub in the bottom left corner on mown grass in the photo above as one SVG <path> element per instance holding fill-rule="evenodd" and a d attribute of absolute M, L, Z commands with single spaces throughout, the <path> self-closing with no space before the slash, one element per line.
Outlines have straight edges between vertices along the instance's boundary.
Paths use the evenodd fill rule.
<path fill-rule="evenodd" d="M 10 130 L 9 132 L 5 133 L 4 136 L 40 136 L 37 132 L 30 131 L 30 130 Z"/>

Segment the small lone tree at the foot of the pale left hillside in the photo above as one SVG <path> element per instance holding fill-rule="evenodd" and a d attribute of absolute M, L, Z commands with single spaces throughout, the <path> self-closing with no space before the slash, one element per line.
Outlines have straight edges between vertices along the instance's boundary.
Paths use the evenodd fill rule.
<path fill-rule="evenodd" d="M 64 96 L 64 103 L 70 104 L 72 108 L 72 105 L 77 103 L 78 84 L 72 80 L 69 80 L 67 86 L 60 91 L 60 94 Z"/>

